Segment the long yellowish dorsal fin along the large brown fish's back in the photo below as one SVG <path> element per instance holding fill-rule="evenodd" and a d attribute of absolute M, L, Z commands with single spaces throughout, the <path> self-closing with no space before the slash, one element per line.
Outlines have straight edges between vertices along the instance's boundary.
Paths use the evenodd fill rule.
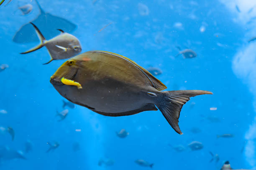
<path fill-rule="evenodd" d="M 132 65 L 134 65 L 135 67 L 137 67 L 139 70 L 141 70 L 141 72 L 143 72 L 143 74 L 148 77 L 148 80 L 151 82 L 152 87 L 155 87 L 157 90 L 161 91 L 166 89 L 167 87 L 164 85 L 164 83 L 162 83 L 160 80 L 158 80 L 156 77 L 154 77 L 153 75 L 151 75 L 150 72 L 148 72 L 148 70 L 146 70 L 145 68 L 141 67 L 140 65 L 138 65 L 136 62 L 134 62 L 133 60 L 130 60 L 127 57 L 124 57 L 123 55 L 119 55 L 119 54 L 115 54 L 113 52 L 108 52 L 108 51 L 100 51 L 100 50 L 95 50 L 92 52 L 100 52 L 100 53 L 105 53 L 105 54 L 110 54 L 110 55 L 114 55 L 116 57 L 120 57 L 124 60 L 126 60 L 127 62 L 130 62 Z"/>

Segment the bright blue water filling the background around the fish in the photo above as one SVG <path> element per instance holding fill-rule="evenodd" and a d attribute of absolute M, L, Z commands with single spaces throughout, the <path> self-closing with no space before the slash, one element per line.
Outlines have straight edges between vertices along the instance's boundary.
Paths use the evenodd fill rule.
<path fill-rule="evenodd" d="M 33 10 L 23 15 L 18 7 L 26 4 Z M 5 0 L 0 6 L 1 170 L 219 170 L 227 160 L 233 169 L 256 169 L 255 2 L 38 0 L 38 4 L 41 8 L 35 0 Z M 49 82 L 66 60 L 42 65 L 49 60 L 46 48 L 20 55 L 40 41 L 28 24 L 34 20 L 46 40 L 61 29 L 79 39 L 82 52 L 115 52 L 144 68 L 160 69 L 155 76 L 168 90 L 208 90 L 214 95 L 192 97 L 183 106 L 179 117 L 183 135 L 160 111 L 107 117 L 74 107 Z M 25 24 L 26 36 L 13 41 Z M 65 109 L 68 115 L 59 121 L 56 110 Z M 125 138 L 117 135 L 122 129 L 129 133 Z M 189 148 L 198 142 L 200 150 Z"/>

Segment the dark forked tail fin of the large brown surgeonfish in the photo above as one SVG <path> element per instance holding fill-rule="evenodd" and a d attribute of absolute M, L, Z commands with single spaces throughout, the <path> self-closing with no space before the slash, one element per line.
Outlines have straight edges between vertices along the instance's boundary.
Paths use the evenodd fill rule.
<path fill-rule="evenodd" d="M 172 126 L 172 128 L 182 135 L 182 131 L 179 129 L 179 114 L 182 106 L 189 100 L 189 97 L 197 95 L 212 94 L 212 92 L 204 90 L 177 90 L 177 91 L 164 91 L 162 100 L 156 104 L 159 110 L 162 112 L 166 120 Z"/>

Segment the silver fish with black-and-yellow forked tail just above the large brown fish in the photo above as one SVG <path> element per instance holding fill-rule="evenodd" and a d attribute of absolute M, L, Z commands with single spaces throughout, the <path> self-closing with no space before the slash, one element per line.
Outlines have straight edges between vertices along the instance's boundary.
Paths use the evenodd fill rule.
<path fill-rule="evenodd" d="M 32 48 L 31 50 L 21 52 L 20 54 L 27 54 L 45 46 L 51 55 L 51 60 L 44 64 L 49 64 L 52 60 L 70 58 L 74 55 L 79 54 L 82 51 L 80 42 L 74 35 L 64 32 L 63 30 L 59 30 L 61 31 L 60 35 L 57 35 L 50 40 L 46 40 L 40 30 L 36 27 L 36 25 L 34 25 L 33 23 L 31 24 L 35 28 L 41 43 L 38 46 Z"/>

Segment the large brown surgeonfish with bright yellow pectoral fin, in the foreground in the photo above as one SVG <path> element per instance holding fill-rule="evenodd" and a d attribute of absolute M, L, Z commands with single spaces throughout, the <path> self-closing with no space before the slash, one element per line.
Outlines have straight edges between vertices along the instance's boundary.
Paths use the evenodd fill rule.
<path fill-rule="evenodd" d="M 82 89 L 64 85 L 62 77 L 79 82 Z M 89 51 L 71 58 L 54 73 L 51 83 L 67 100 L 102 115 L 133 115 L 157 110 L 157 106 L 180 134 L 178 118 L 182 105 L 189 97 L 212 94 L 202 90 L 162 92 L 167 87 L 146 69 L 105 51 Z"/>

